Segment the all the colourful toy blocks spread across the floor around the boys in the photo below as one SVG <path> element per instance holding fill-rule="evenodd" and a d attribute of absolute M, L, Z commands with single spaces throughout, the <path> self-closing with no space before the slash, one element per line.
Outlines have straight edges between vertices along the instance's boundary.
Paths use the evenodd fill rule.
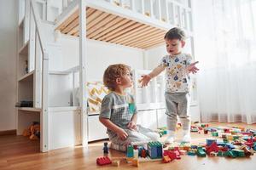
<path fill-rule="evenodd" d="M 224 156 L 249 157 L 256 150 L 256 131 L 244 127 L 209 127 L 206 123 L 196 123 L 192 128 L 198 132 L 212 134 L 212 139 L 206 139 L 204 144 L 162 144 L 160 142 L 133 142 L 126 148 L 126 161 L 138 167 L 143 161 L 162 161 L 164 163 L 188 156 Z M 165 128 L 160 129 L 162 132 Z M 194 130 L 193 130 L 194 131 Z M 194 131 L 196 132 L 196 131 Z M 165 134 L 165 133 L 163 133 Z M 105 147 L 105 146 L 104 146 Z M 111 161 L 108 156 L 98 158 L 98 165 L 112 164 L 119 166 L 119 161 Z"/>

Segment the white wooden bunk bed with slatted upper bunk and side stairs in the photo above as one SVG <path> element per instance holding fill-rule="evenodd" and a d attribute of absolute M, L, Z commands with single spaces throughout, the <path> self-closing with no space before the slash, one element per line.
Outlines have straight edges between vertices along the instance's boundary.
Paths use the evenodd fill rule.
<path fill-rule="evenodd" d="M 60 15 L 55 17 L 54 26 L 40 22 L 39 17 L 34 15 L 36 30 L 39 32 L 38 23 L 40 23 L 51 32 L 50 36 L 46 36 L 49 37 L 48 40 L 44 41 L 54 39 L 53 35 L 60 33 L 79 37 L 79 65 L 66 71 L 49 71 L 48 57 L 43 54 L 43 57 L 41 56 L 44 61 L 43 66 L 39 70 L 34 68 L 34 72 L 41 71 L 43 75 L 40 81 L 32 81 L 33 87 L 38 91 L 43 89 L 41 93 L 36 90 L 37 95 L 35 95 L 35 92 L 30 90 L 31 95 L 34 94 L 34 100 L 42 98 L 40 105 L 33 107 L 40 113 L 39 120 L 43 127 L 40 143 L 42 151 L 70 144 L 86 145 L 91 140 L 108 138 L 105 127 L 97 121 L 96 114 L 89 113 L 87 108 L 88 92 L 85 85 L 88 83 L 86 79 L 88 56 L 84 47 L 88 39 L 139 48 L 146 52 L 150 48 L 163 45 L 163 37 L 170 28 L 181 26 L 189 35 L 188 46 L 191 47 L 190 52 L 194 53 L 191 0 L 63 0 L 61 7 L 58 6 L 58 11 Z M 25 20 L 23 22 L 26 23 Z M 29 46 L 26 48 L 30 50 Z M 48 45 L 47 48 L 57 48 L 57 45 Z M 34 62 L 38 62 L 37 56 L 34 57 Z M 148 62 L 146 58 L 144 61 Z M 148 88 L 141 88 L 137 80 L 145 73 L 148 71 L 134 71 L 134 93 L 141 115 L 139 122 L 147 123 L 145 118 L 151 116 L 157 121 L 153 127 L 152 124 L 148 124 L 148 127 L 162 127 L 165 125 L 164 76 L 162 74 L 151 81 Z M 54 85 L 53 82 L 59 78 L 62 82 Z M 60 90 L 59 84 L 65 83 L 71 90 L 65 91 L 64 88 L 67 98 L 61 99 L 63 105 L 60 102 L 55 104 L 55 91 Z M 55 124 L 59 127 L 55 128 Z M 94 132 L 98 133 L 94 135 Z"/>

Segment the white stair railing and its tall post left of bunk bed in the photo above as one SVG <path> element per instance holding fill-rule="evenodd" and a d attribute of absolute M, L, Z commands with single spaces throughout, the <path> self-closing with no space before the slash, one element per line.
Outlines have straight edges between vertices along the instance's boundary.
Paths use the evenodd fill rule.
<path fill-rule="evenodd" d="M 41 129 L 40 129 L 40 150 L 48 151 L 48 72 L 49 72 L 49 53 L 46 47 L 46 39 L 44 36 L 42 20 L 38 13 L 38 8 L 35 0 L 30 1 L 30 14 L 31 14 L 31 26 L 34 24 L 34 31 L 30 31 L 31 34 L 34 33 L 33 46 L 35 49 L 35 91 L 36 98 L 42 99 L 42 112 L 40 114 Z M 32 20 L 33 19 L 33 20 Z M 33 28 L 33 27 L 30 27 Z M 33 32 L 33 33 L 32 33 Z M 37 95 L 38 94 L 38 95 Z M 40 105 L 40 99 L 39 104 Z"/>

